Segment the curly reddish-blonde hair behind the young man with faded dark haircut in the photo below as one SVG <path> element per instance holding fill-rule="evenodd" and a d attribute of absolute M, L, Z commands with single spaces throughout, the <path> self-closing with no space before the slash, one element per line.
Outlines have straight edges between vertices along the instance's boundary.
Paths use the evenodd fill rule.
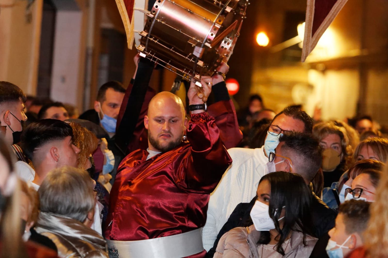
<path fill-rule="evenodd" d="M 78 168 L 85 169 L 87 160 L 98 146 L 98 139 L 95 134 L 80 124 L 70 122 L 71 128 L 73 129 L 73 143 L 80 149 L 78 153 Z"/>

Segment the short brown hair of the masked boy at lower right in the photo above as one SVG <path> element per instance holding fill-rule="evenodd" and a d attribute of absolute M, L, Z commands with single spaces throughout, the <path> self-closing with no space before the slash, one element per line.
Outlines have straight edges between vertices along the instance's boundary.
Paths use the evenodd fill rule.
<path fill-rule="evenodd" d="M 362 237 L 362 233 L 368 226 L 370 217 L 369 207 L 370 202 L 349 200 L 340 205 L 338 213 L 343 214 L 343 222 L 345 224 L 345 230 L 347 234 L 359 233 Z"/>

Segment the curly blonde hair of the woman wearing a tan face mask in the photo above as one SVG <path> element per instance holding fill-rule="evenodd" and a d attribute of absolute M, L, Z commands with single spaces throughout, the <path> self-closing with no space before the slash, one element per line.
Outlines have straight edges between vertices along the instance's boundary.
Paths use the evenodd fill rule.
<path fill-rule="evenodd" d="M 345 160 L 345 170 L 348 169 L 353 163 L 353 149 L 349 143 L 348 134 L 344 127 L 336 126 L 334 122 L 320 122 L 313 127 L 313 135 L 322 141 L 323 138 L 329 134 L 337 134 L 341 139 L 341 149 L 343 154 L 343 160 Z"/>

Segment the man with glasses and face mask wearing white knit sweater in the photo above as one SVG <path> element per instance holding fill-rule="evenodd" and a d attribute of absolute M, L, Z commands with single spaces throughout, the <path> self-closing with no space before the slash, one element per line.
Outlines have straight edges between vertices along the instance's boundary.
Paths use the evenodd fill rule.
<path fill-rule="evenodd" d="M 231 148 L 233 163 L 225 171 L 220 183 L 210 196 L 206 225 L 202 240 L 204 248 L 213 247 L 217 234 L 239 203 L 248 203 L 256 194 L 261 177 L 274 172 L 274 162 L 268 162 L 275 153 L 279 138 L 290 131 L 311 133 L 313 119 L 299 108 L 287 107 L 272 120 L 262 148 Z M 320 158 L 321 159 L 321 158 Z M 213 257 L 209 253 L 207 257 Z"/>

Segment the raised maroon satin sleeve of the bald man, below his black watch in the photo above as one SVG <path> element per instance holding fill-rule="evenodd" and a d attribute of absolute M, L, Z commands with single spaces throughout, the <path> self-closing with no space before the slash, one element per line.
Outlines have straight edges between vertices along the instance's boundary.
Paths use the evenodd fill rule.
<path fill-rule="evenodd" d="M 191 151 L 173 163 L 177 185 L 186 191 L 210 194 L 232 163 L 220 139 L 215 119 L 206 112 L 192 114 L 187 129 Z"/>

